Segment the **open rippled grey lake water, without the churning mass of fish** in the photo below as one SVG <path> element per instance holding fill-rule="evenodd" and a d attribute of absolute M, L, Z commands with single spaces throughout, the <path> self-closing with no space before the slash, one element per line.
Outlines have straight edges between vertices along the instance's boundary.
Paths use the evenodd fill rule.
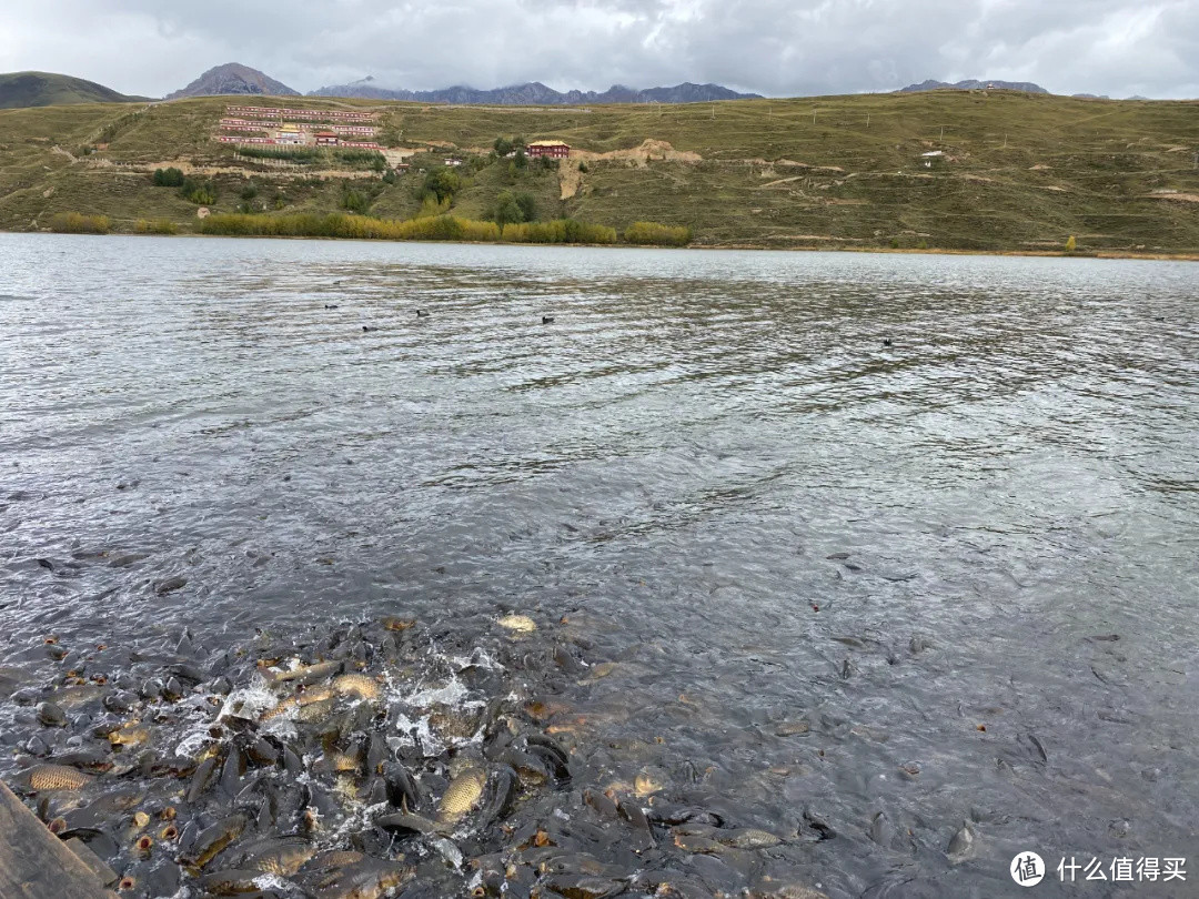
<path fill-rule="evenodd" d="M 832 899 L 1199 894 L 1197 554 L 1194 265 L 0 235 L 0 665 L 525 614 Z"/>

